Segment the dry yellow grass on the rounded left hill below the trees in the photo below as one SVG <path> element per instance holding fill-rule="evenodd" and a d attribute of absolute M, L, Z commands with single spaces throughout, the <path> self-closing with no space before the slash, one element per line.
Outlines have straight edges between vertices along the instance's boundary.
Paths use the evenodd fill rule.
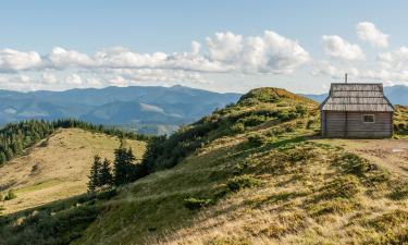
<path fill-rule="evenodd" d="M 136 158 L 145 150 L 144 142 L 127 140 Z M 97 154 L 113 160 L 116 137 L 79 128 L 60 130 L 25 156 L 0 168 L 0 186 L 14 189 L 17 198 L 4 203 L 4 213 L 36 207 L 87 191 L 87 175 Z"/>

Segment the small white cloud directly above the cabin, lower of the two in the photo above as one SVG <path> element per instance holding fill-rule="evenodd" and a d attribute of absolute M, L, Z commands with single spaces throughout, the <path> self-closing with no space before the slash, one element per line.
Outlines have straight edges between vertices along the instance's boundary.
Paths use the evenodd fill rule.
<path fill-rule="evenodd" d="M 342 37 L 333 35 L 322 37 L 326 54 L 342 60 L 363 60 L 364 53 L 358 45 L 353 45 Z"/>

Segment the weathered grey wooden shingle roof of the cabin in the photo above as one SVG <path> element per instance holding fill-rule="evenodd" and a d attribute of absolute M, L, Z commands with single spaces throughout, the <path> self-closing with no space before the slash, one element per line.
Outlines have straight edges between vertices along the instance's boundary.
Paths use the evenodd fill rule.
<path fill-rule="evenodd" d="M 382 84 L 333 83 L 329 97 L 320 105 L 323 111 L 393 112 Z"/>

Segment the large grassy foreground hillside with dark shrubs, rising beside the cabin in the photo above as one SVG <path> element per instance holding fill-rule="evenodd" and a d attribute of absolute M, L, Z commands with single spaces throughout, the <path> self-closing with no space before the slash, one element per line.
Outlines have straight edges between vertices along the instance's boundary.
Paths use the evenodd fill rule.
<path fill-rule="evenodd" d="M 143 163 L 149 175 L 4 217 L 0 236 L 20 245 L 408 242 L 406 142 L 388 139 L 396 171 L 369 158 L 373 144 L 362 154 L 361 143 L 320 139 L 319 130 L 316 102 L 255 89 L 158 144 Z"/>

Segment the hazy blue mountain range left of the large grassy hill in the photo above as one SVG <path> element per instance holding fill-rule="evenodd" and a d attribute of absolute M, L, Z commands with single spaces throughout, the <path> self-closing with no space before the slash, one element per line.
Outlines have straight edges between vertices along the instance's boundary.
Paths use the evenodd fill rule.
<path fill-rule="evenodd" d="M 75 118 L 144 133 L 169 133 L 215 108 L 236 102 L 239 94 L 183 86 L 107 87 L 65 91 L 0 90 L 0 124 L 27 119 Z"/>

